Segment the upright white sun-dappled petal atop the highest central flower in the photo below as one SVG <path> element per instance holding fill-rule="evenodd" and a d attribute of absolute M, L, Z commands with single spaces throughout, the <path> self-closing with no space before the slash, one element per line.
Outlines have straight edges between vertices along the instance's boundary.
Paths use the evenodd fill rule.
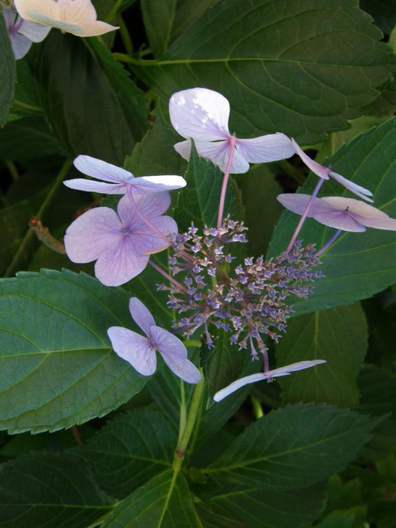
<path fill-rule="evenodd" d="M 182 137 L 215 141 L 229 137 L 230 103 L 217 91 L 192 88 L 177 91 L 169 101 L 173 128 Z"/>

